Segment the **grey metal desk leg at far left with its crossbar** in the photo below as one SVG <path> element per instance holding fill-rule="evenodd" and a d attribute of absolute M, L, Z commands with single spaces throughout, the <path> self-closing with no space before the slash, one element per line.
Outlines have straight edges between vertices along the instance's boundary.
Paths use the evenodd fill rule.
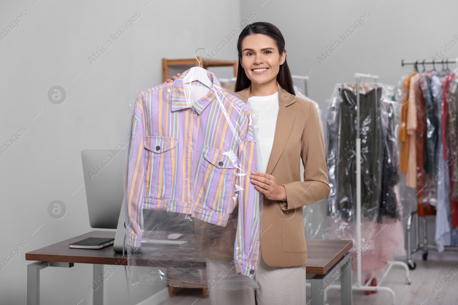
<path fill-rule="evenodd" d="M 73 267 L 72 262 L 33 262 L 27 265 L 27 305 L 40 305 L 40 270 L 46 267 Z"/>

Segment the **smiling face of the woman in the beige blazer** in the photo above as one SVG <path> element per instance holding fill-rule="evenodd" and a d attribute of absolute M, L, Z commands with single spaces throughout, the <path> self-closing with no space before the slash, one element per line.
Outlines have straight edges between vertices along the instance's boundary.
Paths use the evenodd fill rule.
<path fill-rule="evenodd" d="M 285 61 L 286 52 L 279 53 L 273 38 L 264 34 L 248 35 L 243 39 L 241 49 L 240 61 L 251 82 L 262 84 L 277 79 L 280 65 Z"/>

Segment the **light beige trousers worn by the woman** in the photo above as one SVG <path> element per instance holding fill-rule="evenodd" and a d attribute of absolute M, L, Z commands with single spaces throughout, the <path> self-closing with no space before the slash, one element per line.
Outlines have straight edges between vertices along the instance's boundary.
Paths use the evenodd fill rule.
<path fill-rule="evenodd" d="M 207 259 L 207 276 L 227 271 L 226 278 L 209 285 L 210 305 L 305 305 L 305 265 L 297 267 L 269 267 L 259 258 L 256 291 L 253 284 L 227 262 Z M 211 288 L 210 288 L 211 287 Z M 225 288 L 236 289 L 226 290 Z"/>

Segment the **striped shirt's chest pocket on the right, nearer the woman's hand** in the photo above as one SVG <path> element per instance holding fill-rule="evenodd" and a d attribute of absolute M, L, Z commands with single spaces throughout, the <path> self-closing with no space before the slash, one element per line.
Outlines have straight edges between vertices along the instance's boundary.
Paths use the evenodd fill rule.
<path fill-rule="evenodd" d="M 237 163 L 233 151 L 203 147 L 196 202 L 217 213 L 232 211 L 236 202 Z M 203 204 L 202 204 L 203 203 Z"/>

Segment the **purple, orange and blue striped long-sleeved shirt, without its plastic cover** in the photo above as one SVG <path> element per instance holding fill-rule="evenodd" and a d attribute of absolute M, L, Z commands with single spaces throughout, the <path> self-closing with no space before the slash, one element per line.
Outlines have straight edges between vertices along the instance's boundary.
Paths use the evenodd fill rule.
<path fill-rule="evenodd" d="M 252 278 L 260 249 L 260 193 L 250 182 L 251 172 L 258 171 L 250 107 L 209 71 L 209 93 L 187 101 L 188 71 L 137 97 L 127 169 L 127 243 L 141 245 L 142 209 L 225 226 L 238 204 L 234 264 Z"/>

